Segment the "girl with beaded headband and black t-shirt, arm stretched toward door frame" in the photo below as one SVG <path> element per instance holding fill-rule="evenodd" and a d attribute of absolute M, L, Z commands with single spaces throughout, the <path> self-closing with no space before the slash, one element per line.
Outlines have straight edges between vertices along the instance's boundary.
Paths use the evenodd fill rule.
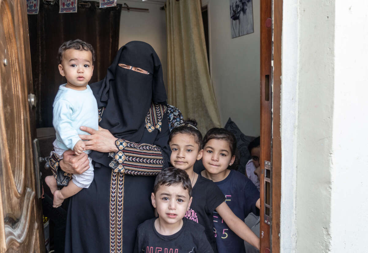
<path fill-rule="evenodd" d="M 213 212 L 221 215 L 224 222 L 240 238 L 259 249 L 259 238 L 239 219 L 226 204 L 226 199 L 214 182 L 193 171 L 195 161 L 202 158 L 202 134 L 195 120 L 187 120 L 175 127 L 169 137 L 170 163 L 187 172 L 192 183 L 192 204 L 185 217 L 205 227 L 205 233 L 213 251 L 217 252 L 217 232 L 213 226 Z M 233 162 L 233 161 L 232 161 Z M 227 251 L 232 252 L 232 251 Z"/>

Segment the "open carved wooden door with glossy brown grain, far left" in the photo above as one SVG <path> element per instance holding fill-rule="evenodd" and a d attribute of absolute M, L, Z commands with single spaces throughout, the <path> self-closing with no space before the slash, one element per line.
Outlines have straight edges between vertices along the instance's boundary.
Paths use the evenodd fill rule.
<path fill-rule="evenodd" d="M 0 252 L 45 252 L 25 0 L 0 0 Z M 37 143 L 35 143 L 37 144 Z"/>

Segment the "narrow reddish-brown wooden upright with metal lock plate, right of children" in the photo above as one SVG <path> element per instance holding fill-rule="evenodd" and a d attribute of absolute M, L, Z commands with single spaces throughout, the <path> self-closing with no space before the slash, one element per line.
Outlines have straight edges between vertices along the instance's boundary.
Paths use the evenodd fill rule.
<path fill-rule="evenodd" d="M 272 1 L 261 0 L 260 252 L 271 252 L 272 227 Z"/>

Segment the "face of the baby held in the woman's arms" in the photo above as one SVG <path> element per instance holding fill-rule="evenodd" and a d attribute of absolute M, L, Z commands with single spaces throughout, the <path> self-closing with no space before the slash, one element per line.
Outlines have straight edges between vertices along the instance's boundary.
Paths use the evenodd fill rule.
<path fill-rule="evenodd" d="M 59 64 L 60 75 L 67 78 L 66 87 L 85 90 L 93 73 L 92 53 L 86 50 L 67 49 Z"/>

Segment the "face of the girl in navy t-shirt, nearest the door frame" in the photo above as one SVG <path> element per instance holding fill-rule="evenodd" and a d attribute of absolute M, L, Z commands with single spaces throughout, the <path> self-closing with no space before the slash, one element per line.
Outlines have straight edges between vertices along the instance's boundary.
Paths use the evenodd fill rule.
<path fill-rule="evenodd" d="M 210 139 L 204 147 L 202 162 L 207 173 L 215 175 L 226 171 L 234 159 L 235 155 L 231 155 L 230 145 L 226 140 Z"/>

